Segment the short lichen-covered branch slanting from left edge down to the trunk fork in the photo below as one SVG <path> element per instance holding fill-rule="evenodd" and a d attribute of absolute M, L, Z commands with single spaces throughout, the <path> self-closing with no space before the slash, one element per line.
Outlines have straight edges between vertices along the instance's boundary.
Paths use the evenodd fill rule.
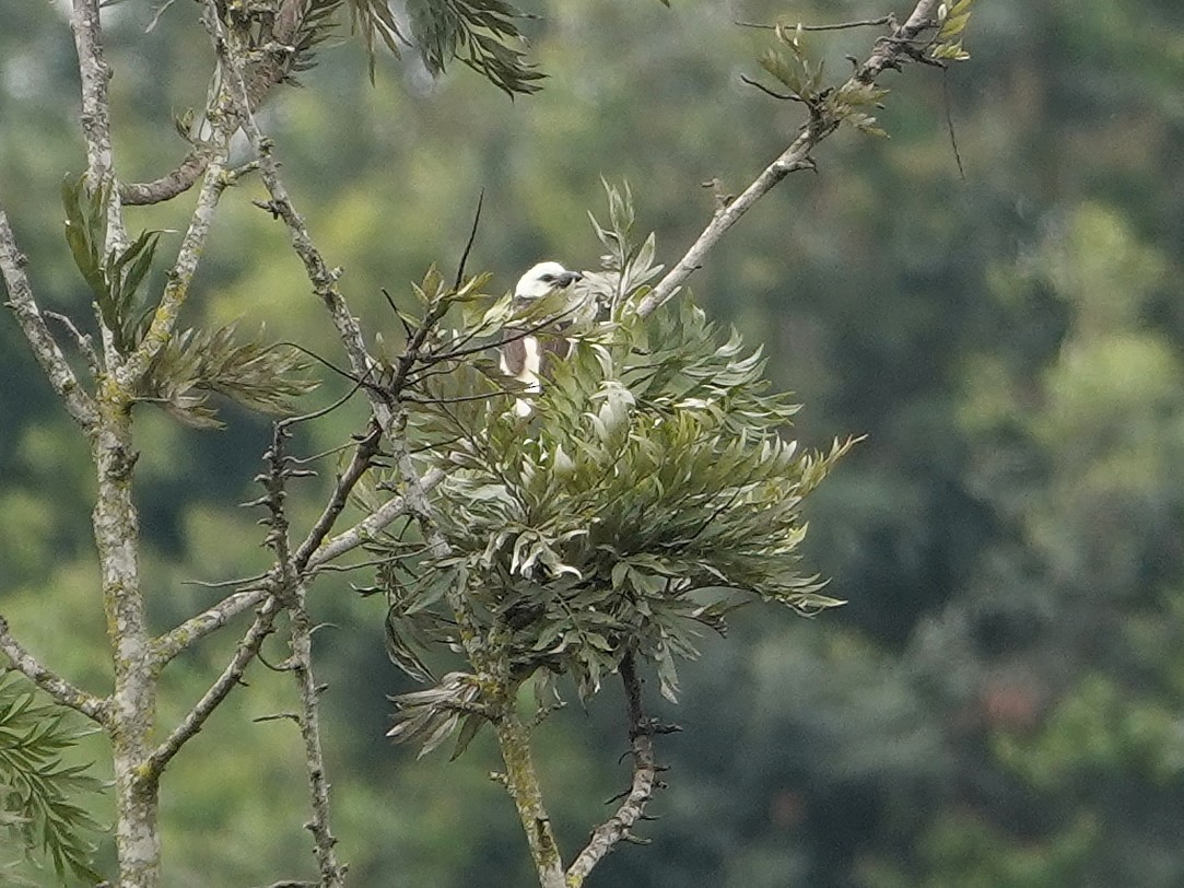
<path fill-rule="evenodd" d="M 8 225 L 8 217 L 0 207 L 0 272 L 4 274 L 5 285 L 8 288 L 6 304 L 17 315 L 17 322 L 33 348 L 33 356 L 37 358 L 37 362 L 70 417 L 89 431 L 98 422 L 95 401 L 78 385 L 70 363 L 45 324 L 45 318 L 33 298 L 33 288 L 25 274 L 25 257 L 17 249 L 17 239 L 12 233 L 12 226 Z"/>

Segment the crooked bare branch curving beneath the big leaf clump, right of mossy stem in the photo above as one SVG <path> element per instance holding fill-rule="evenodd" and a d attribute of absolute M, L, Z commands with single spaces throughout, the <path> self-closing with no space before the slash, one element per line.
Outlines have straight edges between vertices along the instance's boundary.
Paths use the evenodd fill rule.
<path fill-rule="evenodd" d="M 654 761 L 654 726 L 642 708 L 642 682 L 637 676 L 632 651 L 628 652 L 620 661 L 620 680 L 625 687 L 625 708 L 629 713 L 633 780 L 620 807 L 592 831 L 592 838 L 587 847 L 567 868 L 567 888 L 579 888 L 592 868 L 618 842 L 630 837 L 633 824 L 641 819 L 657 785 L 657 765 Z"/>

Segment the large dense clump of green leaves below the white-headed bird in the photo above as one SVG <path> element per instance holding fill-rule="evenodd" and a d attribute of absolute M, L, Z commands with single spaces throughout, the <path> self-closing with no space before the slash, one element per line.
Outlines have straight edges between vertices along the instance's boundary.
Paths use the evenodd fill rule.
<path fill-rule="evenodd" d="M 798 405 L 771 390 L 760 352 L 721 336 L 688 300 L 637 315 L 652 250 L 625 237 L 631 211 L 628 193 L 618 197 L 597 234 L 606 265 L 632 269 L 635 283 L 607 317 L 561 332 L 575 346 L 553 362 L 530 416 L 513 410 L 506 380 L 464 365 L 432 380 L 436 397 L 412 418 L 435 444 L 424 463 L 446 474 L 432 496 L 450 554 L 413 541 L 377 548 L 388 559 L 379 580 L 393 658 L 417 677 L 426 675 L 418 651 L 459 646 L 456 593 L 472 614 L 466 631 L 513 686 L 570 675 L 588 696 L 633 651 L 671 700 L 676 658 L 695 657 L 696 636 L 722 632 L 731 610 L 753 599 L 803 613 L 839 604 L 799 570 L 800 506 L 850 442 L 799 451 L 784 437 Z M 604 277 L 617 291 L 620 281 Z M 432 719 L 419 712 L 430 701 L 400 702 L 422 728 L 405 712 L 403 739 L 437 745 L 450 733 L 445 714 L 458 723 L 455 708 Z"/>

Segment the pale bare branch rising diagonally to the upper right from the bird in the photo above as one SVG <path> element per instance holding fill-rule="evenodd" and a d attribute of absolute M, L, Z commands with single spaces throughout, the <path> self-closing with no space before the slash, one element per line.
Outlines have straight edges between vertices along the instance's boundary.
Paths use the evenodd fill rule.
<path fill-rule="evenodd" d="M 913 47 L 913 41 L 937 24 L 937 6 L 938 0 L 919 0 L 905 24 L 895 28 L 890 37 L 877 41 L 867 62 L 856 69 L 848 83 L 854 86 L 871 84 L 884 69 L 899 67 L 906 59 L 915 58 L 918 53 Z M 810 120 L 798 137 L 777 160 L 765 167 L 738 198 L 715 213 L 686 255 L 641 301 L 637 313 L 645 317 L 674 296 L 687 282 L 687 278 L 702 266 L 707 253 L 720 242 L 725 232 L 785 176 L 798 169 L 812 169 L 811 153 L 823 139 L 838 128 L 838 124 L 839 121 L 834 116 L 828 116 L 817 109 L 812 110 Z"/>

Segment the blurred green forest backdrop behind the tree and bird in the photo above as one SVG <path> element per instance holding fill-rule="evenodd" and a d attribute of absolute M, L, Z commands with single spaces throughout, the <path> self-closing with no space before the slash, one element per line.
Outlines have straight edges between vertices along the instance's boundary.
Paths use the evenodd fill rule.
<path fill-rule="evenodd" d="M 128 0 L 105 19 L 129 180 L 180 159 L 170 116 L 201 107 L 212 63 L 192 4 L 144 33 L 154 6 Z M 88 323 L 58 200 L 84 165 L 60 7 L 0 5 L 0 198 L 43 305 Z M 372 330 L 393 327 L 379 288 L 455 266 L 482 187 L 470 269 L 495 271 L 497 291 L 541 258 L 597 265 L 586 211 L 601 210 L 601 175 L 631 182 L 639 227 L 673 262 L 709 218 L 700 184 L 739 189 L 800 122 L 740 82 L 770 36 L 733 22 L 884 12 L 854 0 L 525 7 L 540 15 L 526 27 L 549 75 L 536 96 L 510 102 L 459 65 L 433 82 L 413 52 L 381 58 L 372 86 L 342 39 L 264 109 L 297 206 Z M 592 883 L 1184 884 L 1179 13 L 1178 0 L 979 0 L 970 62 L 945 77 L 889 73 L 892 137 L 828 141 L 818 173 L 791 176 L 693 278 L 714 317 L 765 343 L 777 384 L 806 405 L 805 443 L 868 436 L 807 509 L 807 567 L 849 604 L 812 620 L 751 611 L 726 641 L 704 639 L 681 706 L 655 701 L 686 731 L 661 741 L 670 786 L 644 830 L 652 844 L 618 850 Z M 871 39 L 810 45 L 838 75 Z M 259 193 L 224 201 L 187 320 L 265 321 L 335 358 L 284 230 L 250 205 Z M 189 199 L 133 211 L 131 227 L 184 227 Z M 340 443 L 361 410 L 301 446 Z M 219 432 L 140 416 L 146 570 L 165 628 L 214 600 L 185 580 L 266 562 L 256 515 L 234 503 L 256 495 L 268 426 L 229 407 Z M 0 612 L 50 664 L 104 690 L 85 446 L 11 317 L 0 427 Z M 328 578 L 314 606 L 340 626 L 317 635 L 317 652 L 353 883 L 529 884 L 513 806 L 487 778 L 493 746 L 453 764 L 392 747 L 386 696 L 410 687 L 384 654 L 381 604 Z M 174 664 L 163 725 L 232 644 Z M 292 708 L 291 688 L 265 669 L 249 677 L 166 774 L 166 884 L 313 871 L 295 728 L 252 721 Z M 625 785 L 620 708 L 609 691 L 541 733 L 568 849 Z M 111 857 L 104 843 L 99 861 Z"/>

